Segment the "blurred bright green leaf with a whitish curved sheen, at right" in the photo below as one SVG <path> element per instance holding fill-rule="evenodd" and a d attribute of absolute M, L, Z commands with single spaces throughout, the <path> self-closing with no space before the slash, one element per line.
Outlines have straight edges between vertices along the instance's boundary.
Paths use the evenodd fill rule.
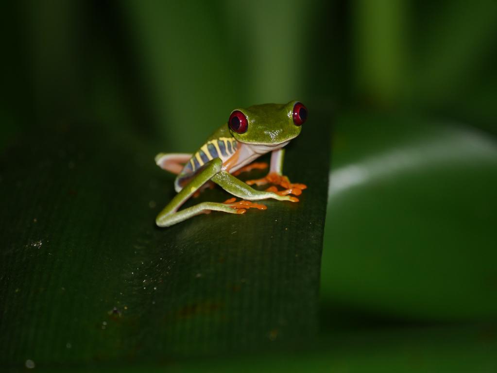
<path fill-rule="evenodd" d="M 495 139 L 405 115 L 348 113 L 336 122 L 321 288 L 327 309 L 495 319 Z"/>

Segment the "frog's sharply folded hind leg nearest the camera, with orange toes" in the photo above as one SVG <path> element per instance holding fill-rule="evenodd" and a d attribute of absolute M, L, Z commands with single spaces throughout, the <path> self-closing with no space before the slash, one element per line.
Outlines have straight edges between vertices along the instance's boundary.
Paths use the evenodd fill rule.
<path fill-rule="evenodd" d="M 183 205 L 197 190 L 199 190 L 202 185 L 221 171 L 221 167 L 222 160 L 220 158 L 214 158 L 207 162 L 203 166 L 203 169 L 199 171 L 199 173 L 196 174 L 159 213 L 156 218 L 156 224 L 158 226 L 170 226 L 189 219 L 195 215 L 208 214 L 211 211 L 221 211 L 230 214 L 243 214 L 249 208 L 263 209 L 265 207 L 261 207 L 262 205 L 256 204 L 234 203 L 234 201 L 230 199 L 225 203 L 202 202 L 198 205 L 178 211 L 181 205 Z"/>

